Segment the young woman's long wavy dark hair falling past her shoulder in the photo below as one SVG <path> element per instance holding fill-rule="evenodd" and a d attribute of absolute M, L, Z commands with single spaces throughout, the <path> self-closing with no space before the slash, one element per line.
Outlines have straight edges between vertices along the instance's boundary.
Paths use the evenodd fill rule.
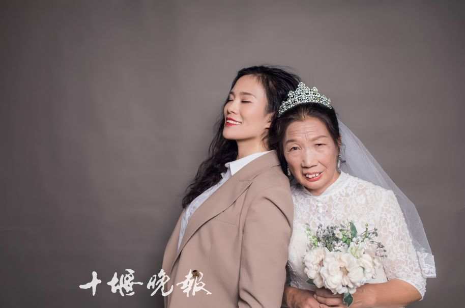
<path fill-rule="evenodd" d="M 300 77 L 294 73 L 285 71 L 278 66 L 252 66 L 241 69 L 233 80 L 230 89 L 234 88 L 239 78 L 245 75 L 257 77 L 267 94 L 267 114 L 273 113 L 272 121 L 277 116 L 279 105 L 287 99 L 290 90 L 296 90 L 300 82 Z M 186 188 L 186 194 L 182 201 L 182 206 L 188 206 L 198 195 L 215 185 L 221 180 L 221 173 L 226 171 L 224 164 L 228 161 L 236 160 L 238 147 L 235 140 L 225 139 L 223 137 L 224 115 L 223 108 L 227 103 L 224 100 L 221 115 L 218 118 L 214 130 L 216 131 L 212 142 L 210 143 L 208 158 L 198 167 L 192 183 Z M 267 144 L 268 144 L 268 137 Z"/>

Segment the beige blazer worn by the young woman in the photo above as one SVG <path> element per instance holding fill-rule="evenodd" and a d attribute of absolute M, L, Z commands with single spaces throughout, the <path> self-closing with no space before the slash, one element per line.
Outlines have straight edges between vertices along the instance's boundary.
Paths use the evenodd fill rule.
<path fill-rule="evenodd" d="M 294 205 L 276 151 L 246 164 L 192 214 L 177 251 L 184 211 L 163 255 L 164 291 L 173 286 L 165 308 L 279 308 Z M 176 285 L 190 270 L 211 294 Z"/>

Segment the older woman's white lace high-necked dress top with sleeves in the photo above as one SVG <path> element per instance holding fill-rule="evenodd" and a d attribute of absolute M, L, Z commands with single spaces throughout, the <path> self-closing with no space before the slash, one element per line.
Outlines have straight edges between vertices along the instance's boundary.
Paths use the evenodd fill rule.
<path fill-rule="evenodd" d="M 412 244 L 404 216 L 392 190 L 341 172 L 337 180 L 321 195 L 312 195 L 302 185 L 291 187 L 294 200 L 294 227 L 289 244 L 287 263 L 288 285 L 313 290 L 304 273 L 303 257 L 308 249 L 305 223 L 316 231 L 323 226 L 338 225 L 353 220 L 357 230 L 377 228 L 378 241 L 387 250 L 387 258 L 381 258 L 376 278 L 369 283 L 382 283 L 389 279 L 402 279 L 418 289 L 422 298 L 426 288 L 420 263 Z"/>

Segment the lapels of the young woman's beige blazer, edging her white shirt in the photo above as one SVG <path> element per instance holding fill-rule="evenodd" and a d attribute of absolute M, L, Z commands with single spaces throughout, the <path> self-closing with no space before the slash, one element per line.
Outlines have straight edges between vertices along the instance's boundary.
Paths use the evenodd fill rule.
<path fill-rule="evenodd" d="M 279 165 L 279 159 L 276 151 L 264 154 L 245 165 L 234 176 L 230 177 L 223 185 L 220 186 L 199 208 L 195 210 L 189 218 L 186 232 L 184 233 L 181 245 L 178 247 L 179 231 L 181 229 L 181 216 L 176 224 L 175 231 L 171 235 L 167 244 L 165 257 L 166 270 L 171 273 L 171 270 L 178 259 L 181 251 L 192 235 L 202 226 L 205 222 L 215 217 L 231 204 L 252 184 L 252 179 L 260 174 L 260 172 L 271 166 Z M 184 211 L 183 213 L 184 214 Z"/>

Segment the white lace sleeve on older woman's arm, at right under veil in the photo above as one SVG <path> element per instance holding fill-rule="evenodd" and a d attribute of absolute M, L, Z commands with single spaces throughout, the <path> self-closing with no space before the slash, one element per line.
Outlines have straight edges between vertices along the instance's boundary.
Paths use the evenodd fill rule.
<path fill-rule="evenodd" d="M 410 283 L 420 292 L 423 299 L 426 278 L 422 275 L 409 229 L 392 190 L 386 191 L 377 228 L 379 240 L 387 250 L 387 258 L 382 258 L 386 277 Z"/>

